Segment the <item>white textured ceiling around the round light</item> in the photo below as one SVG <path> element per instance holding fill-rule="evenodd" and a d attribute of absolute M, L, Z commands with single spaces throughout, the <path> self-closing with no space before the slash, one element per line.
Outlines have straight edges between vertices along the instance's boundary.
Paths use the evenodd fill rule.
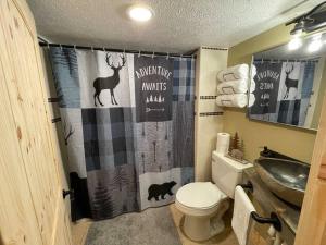
<path fill-rule="evenodd" d="M 52 42 L 148 51 L 228 48 L 312 9 L 322 0 L 27 0 L 39 35 Z M 130 3 L 154 10 L 134 23 Z"/>

